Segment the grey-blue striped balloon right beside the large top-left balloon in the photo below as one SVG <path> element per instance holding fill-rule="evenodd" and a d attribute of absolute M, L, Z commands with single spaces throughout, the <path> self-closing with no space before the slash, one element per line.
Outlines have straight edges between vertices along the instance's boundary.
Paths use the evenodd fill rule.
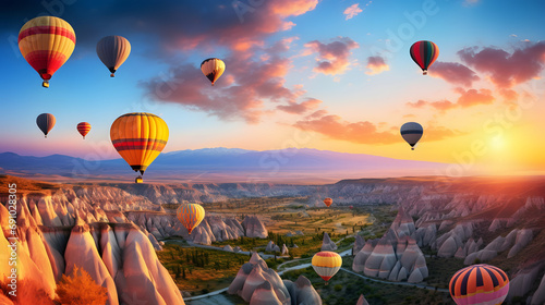
<path fill-rule="evenodd" d="M 106 36 L 97 44 L 97 54 L 100 61 L 110 70 L 110 77 L 131 53 L 131 44 L 121 36 Z"/>

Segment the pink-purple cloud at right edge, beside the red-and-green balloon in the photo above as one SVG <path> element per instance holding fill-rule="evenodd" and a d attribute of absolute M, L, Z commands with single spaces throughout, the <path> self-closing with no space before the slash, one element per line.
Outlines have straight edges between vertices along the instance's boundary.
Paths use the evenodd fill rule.
<path fill-rule="evenodd" d="M 492 47 L 481 50 L 472 47 L 462 49 L 458 54 L 463 62 L 487 74 L 499 88 L 511 88 L 538 77 L 545 69 L 545 41 L 525 44 L 512 53 Z"/>

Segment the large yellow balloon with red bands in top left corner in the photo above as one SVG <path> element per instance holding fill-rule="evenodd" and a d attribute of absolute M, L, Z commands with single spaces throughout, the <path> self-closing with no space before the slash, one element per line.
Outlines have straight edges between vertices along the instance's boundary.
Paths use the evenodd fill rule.
<path fill-rule="evenodd" d="M 70 58 L 74 47 L 74 29 L 59 17 L 35 17 L 19 32 L 19 49 L 44 80 L 41 85 L 46 88 L 53 73 Z"/>

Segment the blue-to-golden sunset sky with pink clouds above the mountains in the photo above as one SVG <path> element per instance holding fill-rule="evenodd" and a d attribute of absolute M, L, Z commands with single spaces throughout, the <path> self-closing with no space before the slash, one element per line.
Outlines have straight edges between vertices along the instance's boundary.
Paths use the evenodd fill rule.
<path fill-rule="evenodd" d="M 457 163 L 463 174 L 545 173 L 543 1 L 10 1 L 0 12 L 0 151 L 118 158 L 109 130 L 144 111 L 170 130 L 164 151 L 288 147 Z M 49 88 L 22 57 L 26 21 L 76 34 Z M 109 77 L 104 36 L 132 46 Z M 434 41 L 422 75 L 410 46 Z M 210 86 L 210 57 L 226 73 Z M 45 139 L 36 117 L 57 124 Z M 78 122 L 92 131 L 83 141 Z M 399 134 L 419 122 L 412 151 Z"/>

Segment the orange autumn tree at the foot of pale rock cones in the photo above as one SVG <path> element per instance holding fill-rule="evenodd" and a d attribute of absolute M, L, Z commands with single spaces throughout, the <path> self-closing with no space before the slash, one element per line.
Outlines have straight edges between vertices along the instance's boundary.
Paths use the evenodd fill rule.
<path fill-rule="evenodd" d="M 56 301 L 71 305 L 104 305 L 108 301 L 107 293 L 108 290 L 97 284 L 89 273 L 74 266 L 70 277 L 62 274 Z"/>

